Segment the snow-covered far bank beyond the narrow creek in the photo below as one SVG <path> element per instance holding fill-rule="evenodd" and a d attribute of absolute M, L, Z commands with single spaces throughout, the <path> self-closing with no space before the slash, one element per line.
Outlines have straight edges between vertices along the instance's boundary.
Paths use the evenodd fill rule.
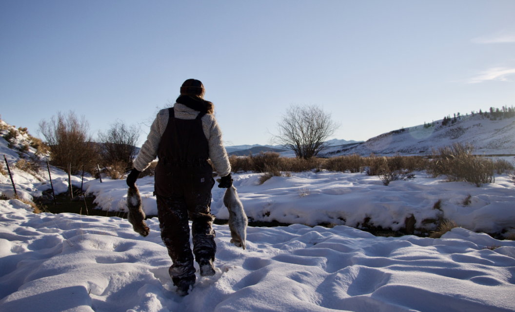
<path fill-rule="evenodd" d="M 409 181 L 383 185 L 379 177 L 364 173 L 301 172 L 291 177 L 272 177 L 258 185 L 260 174 L 235 174 L 234 185 L 247 216 L 255 221 L 279 221 L 315 226 L 333 223 L 350 227 L 370 226 L 397 231 L 406 218 L 415 217 L 415 228 L 435 230 L 438 218 L 454 220 L 459 226 L 477 232 L 498 233 L 515 227 L 515 185 L 506 175 L 495 175 L 495 183 L 476 187 L 466 182 L 445 182 L 422 172 Z M 153 178 L 136 182 L 147 215 L 157 215 L 152 196 Z M 87 183 L 88 193 L 104 210 L 126 209 L 124 180 L 98 180 Z M 212 212 L 228 219 L 224 189 L 213 187 Z M 470 203 L 466 199 L 470 195 Z M 440 210 L 434 209 L 441 200 Z"/>

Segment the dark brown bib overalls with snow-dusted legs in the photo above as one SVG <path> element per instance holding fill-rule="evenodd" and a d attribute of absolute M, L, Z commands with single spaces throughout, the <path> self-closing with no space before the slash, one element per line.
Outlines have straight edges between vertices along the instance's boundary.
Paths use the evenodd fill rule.
<path fill-rule="evenodd" d="M 161 238 L 174 262 L 169 269 L 174 285 L 195 281 L 188 218 L 192 220 L 196 261 L 215 259 L 215 216 L 211 214 L 211 188 L 215 181 L 207 161 L 209 145 L 200 120 L 203 115 L 178 119 L 170 108 L 158 148 L 155 193 Z"/>

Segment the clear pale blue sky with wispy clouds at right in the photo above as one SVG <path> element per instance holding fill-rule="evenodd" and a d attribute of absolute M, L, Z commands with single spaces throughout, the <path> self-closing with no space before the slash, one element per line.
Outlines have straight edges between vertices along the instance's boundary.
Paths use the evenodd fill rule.
<path fill-rule="evenodd" d="M 514 15 L 514 1 L 0 0 L 0 114 L 37 134 L 74 110 L 95 136 L 153 119 L 195 78 L 234 145 L 267 144 L 291 104 L 367 140 L 515 105 Z"/>

